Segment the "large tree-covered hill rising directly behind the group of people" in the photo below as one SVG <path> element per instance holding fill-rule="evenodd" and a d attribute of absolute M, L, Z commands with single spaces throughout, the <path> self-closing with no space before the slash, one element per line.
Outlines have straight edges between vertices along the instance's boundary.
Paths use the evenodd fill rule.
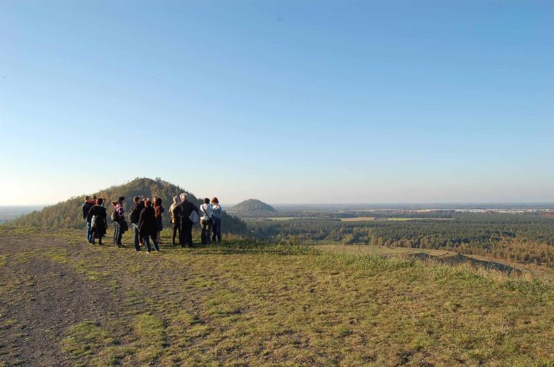
<path fill-rule="evenodd" d="M 180 195 L 184 190 L 179 186 L 175 186 L 161 179 L 134 179 L 129 183 L 125 183 L 121 186 L 112 186 L 100 190 L 97 193 L 90 193 L 89 195 L 97 195 L 97 197 L 103 197 L 108 200 L 106 208 L 108 209 L 108 217 L 111 215 L 112 200 L 117 200 L 118 197 L 125 197 L 125 211 L 129 212 L 133 204 L 133 197 L 137 195 L 148 196 L 150 198 L 157 196 L 163 200 L 162 205 L 166 209 L 164 213 L 164 225 L 169 225 L 168 210 L 171 203 L 173 203 L 173 197 Z M 186 191 L 185 191 L 186 192 Z M 188 198 L 196 205 L 200 205 L 200 199 L 196 196 L 188 193 Z M 17 218 L 13 221 L 15 225 L 29 225 L 33 227 L 49 227 L 49 228 L 84 228 L 85 222 L 82 217 L 81 205 L 84 202 L 84 195 L 79 197 L 72 197 L 65 202 L 47 206 L 41 211 L 33 211 L 27 215 Z M 127 215 L 126 215 L 127 216 Z M 109 218 L 108 218 L 109 220 Z M 225 232 L 244 233 L 247 231 L 246 225 L 242 220 L 223 212 L 223 218 L 221 222 L 222 230 Z"/>

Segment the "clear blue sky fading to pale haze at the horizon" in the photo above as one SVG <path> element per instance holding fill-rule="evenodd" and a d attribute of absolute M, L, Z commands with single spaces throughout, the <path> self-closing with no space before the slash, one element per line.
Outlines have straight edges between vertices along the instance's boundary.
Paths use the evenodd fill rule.
<path fill-rule="evenodd" d="M 554 202 L 552 1 L 0 8 L 0 205 Z"/>

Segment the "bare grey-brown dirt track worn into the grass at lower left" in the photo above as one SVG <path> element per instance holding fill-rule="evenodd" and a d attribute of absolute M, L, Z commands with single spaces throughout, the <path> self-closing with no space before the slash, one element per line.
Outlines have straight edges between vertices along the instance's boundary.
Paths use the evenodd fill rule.
<path fill-rule="evenodd" d="M 123 311 L 97 284 L 43 256 L 47 247 L 67 245 L 28 236 L 0 238 L 0 253 L 8 256 L 0 268 L 0 360 L 10 366 L 71 366 L 60 348 L 68 327 Z"/>

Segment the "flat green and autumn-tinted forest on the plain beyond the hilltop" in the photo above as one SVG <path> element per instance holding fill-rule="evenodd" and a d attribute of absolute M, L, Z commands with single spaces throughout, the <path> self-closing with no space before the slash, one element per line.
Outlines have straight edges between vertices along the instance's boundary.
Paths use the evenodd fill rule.
<path fill-rule="evenodd" d="M 378 214 L 363 213 L 375 218 Z M 248 222 L 248 228 L 255 236 L 277 241 L 295 238 L 312 243 L 333 241 L 450 250 L 554 267 L 554 218 L 533 214 L 442 213 L 434 218 L 451 220 L 433 220 L 424 215 L 427 214 L 415 214 L 418 220 L 405 221 L 255 220 Z"/>

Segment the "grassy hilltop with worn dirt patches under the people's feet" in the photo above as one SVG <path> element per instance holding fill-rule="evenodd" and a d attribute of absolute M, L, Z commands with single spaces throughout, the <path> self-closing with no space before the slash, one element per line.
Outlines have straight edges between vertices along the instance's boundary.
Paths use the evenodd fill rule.
<path fill-rule="evenodd" d="M 83 236 L 0 227 L 4 365 L 554 366 L 552 283 L 238 237 L 146 254 Z"/>

